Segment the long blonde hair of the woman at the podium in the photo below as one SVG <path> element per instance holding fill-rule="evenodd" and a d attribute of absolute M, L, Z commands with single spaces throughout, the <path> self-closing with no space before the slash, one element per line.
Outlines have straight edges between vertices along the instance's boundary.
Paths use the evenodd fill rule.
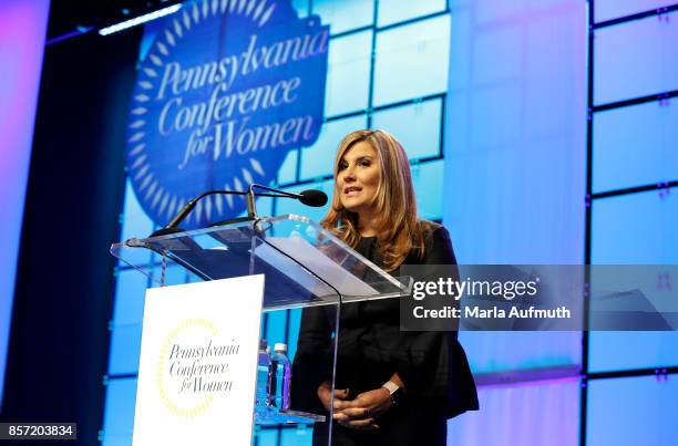
<path fill-rule="evenodd" d="M 341 139 L 335 158 L 335 190 L 323 228 L 355 248 L 360 241 L 358 215 L 343 208 L 337 189 L 337 175 L 343 155 L 357 143 L 368 143 L 377 152 L 381 172 L 377 194 L 372 198 L 377 215 L 379 255 L 387 271 L 398 269 L 412 251 L 424 253 L 423 222 L 417 218 L 417 201 L 410 162 L 402 145 L 384 131 L 356 131 Z"/>

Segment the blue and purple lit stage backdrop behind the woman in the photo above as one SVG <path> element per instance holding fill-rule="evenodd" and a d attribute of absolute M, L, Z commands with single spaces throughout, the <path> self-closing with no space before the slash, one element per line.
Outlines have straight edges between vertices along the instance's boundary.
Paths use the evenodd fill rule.
<path fill-rule="evenodd" d="M 646 2 L 589 3 L 594 20 L 603 21 L 643 12 Z M 587 85 L 584 0 L 222 4 L 232 3 L 186 3 L 146 25 L 130 111 L 122 239 L 150 234 L 209 188 L 256 180 L 331 194 L 339 139 L 367 127 L 403 142 L 421 217 L 450 228 L 462 263 L 676 261 L 675 188 L 626 189 L 678 177 L 670 149 L 676 113 L 666 101 L 649 100 L 587 116 L 587 86 L 595 105 L 676 90 L 678 45 L 668 42 L 678 41 L 678 13 L 595 31 L 596 76 Z M 277 20 L 289 22 L 288 29 L 280 30 Z M 285 42 L 305 35 L 307 58 L 266 68 L 266 55 L 284 60 Z M 620 48 L 633 51 L 615 50 Z M 644 74 L 631 75 L 629 66 Z M 266 108 L 274 97 L 266 95 L 282 81 L 289 104 Z M 282 134 L 298 137 L 280 139 Z M 278 145 L 264 147 L 261 141 Z M 593 190 L 614 197 L 586 196 L 588 155 Z M 187 227 L 243 210 L 237 199 L 206 201 Z M 319 220 L 327 208 L 263 198 L 258 210 Z M 116 276 L 105 445 L 129 444 L 132 436 L 147 286 L 122 265 Z M 299 317 L 267 317 L 263 335 L 295 344 L 289 326 Z M 668 419 L 676 413 L 669 397 L 675 385 L 641 375 L 678 364 L 674 334 L 461 333 L 481 411 L 452 421 L 449 443 L 631 445 L 653 429 L 659 434 L 650 443 L 669 445 L 678 436 L 678 425 Z M 615 377 L 619 371 L 636 376 Z M 593 372 L 610 374 L 588 376 Z M 310 444 L 304 428 L 257 435 L 259 445 Z"/>

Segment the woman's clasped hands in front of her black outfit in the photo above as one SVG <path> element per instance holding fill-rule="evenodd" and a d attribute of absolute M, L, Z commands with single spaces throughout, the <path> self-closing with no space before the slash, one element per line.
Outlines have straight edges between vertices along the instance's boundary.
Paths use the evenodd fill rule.
<path fill-rule="evenodd" d="M 335 400 L 333 419 L 345 427 L 378 429 L 379 425 L 376 424 L 376 419 L 392 404 L 388 388 L 374 388 L 359 394 L 351 401 Z"/>

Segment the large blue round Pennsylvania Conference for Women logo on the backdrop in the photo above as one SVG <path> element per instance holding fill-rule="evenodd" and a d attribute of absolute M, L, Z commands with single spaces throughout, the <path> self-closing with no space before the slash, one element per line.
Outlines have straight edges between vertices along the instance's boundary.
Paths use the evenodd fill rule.
<path fill-rule="evenodd" d="M 206 190 L 271 184 L 290 151 L 318 138 L 329 43 L 318 17 L 299 19 L 290 0 L 202 0 L 146 32 L 126 169 L 155 224 Z M 239 196 L 208 196 L 182 227 L 245 209 Z"/>

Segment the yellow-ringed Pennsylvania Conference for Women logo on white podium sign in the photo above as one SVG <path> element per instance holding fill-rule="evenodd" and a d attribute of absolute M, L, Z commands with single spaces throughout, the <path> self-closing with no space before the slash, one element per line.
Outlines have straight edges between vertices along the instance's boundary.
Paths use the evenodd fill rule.
<path fill-rule="evenodd" d="M 160 401 L 173 415 L 203 414 L 215 397 L 235 391 L 230 365 L 238 361 L 237 340 L 224 342 L 207 319 L 187 319 L 170 331 L 157 357 L 155 383 Z"/>

